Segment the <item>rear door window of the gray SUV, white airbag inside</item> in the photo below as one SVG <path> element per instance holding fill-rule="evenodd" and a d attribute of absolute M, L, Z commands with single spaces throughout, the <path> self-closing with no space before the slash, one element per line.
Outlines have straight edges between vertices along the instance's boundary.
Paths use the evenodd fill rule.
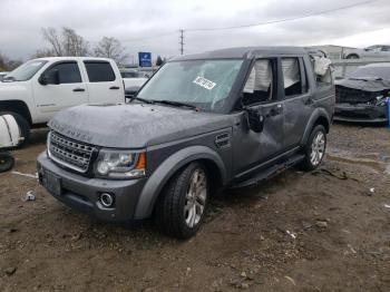
<path fill-rule="evenodd" d="M 282 58 L 282 71 L 284 82 L 284 97 L 293 97 L 303 94 L 303 81 L 299 58 Z"/>

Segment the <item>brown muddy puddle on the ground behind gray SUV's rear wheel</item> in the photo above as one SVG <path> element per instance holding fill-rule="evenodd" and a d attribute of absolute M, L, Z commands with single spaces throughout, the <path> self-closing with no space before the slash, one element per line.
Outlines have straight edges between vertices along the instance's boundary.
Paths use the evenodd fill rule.
<path fill-rule="evenodd" d="M 390 156 L 381 153 L 361 154 L 329 147 L 326 154 L 330 160 L 363 165 L 377 172 L 390 174 Z"/>

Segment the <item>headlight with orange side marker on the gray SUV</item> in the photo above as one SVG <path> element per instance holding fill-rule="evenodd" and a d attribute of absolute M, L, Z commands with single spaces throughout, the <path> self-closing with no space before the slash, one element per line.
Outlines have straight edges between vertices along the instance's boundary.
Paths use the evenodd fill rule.
<path fill-rule="evenodd" d="M 146 153 L 101 149 L 95 163 L 95 174 L 110 178 L 139 178 L 145 176 Z"/>

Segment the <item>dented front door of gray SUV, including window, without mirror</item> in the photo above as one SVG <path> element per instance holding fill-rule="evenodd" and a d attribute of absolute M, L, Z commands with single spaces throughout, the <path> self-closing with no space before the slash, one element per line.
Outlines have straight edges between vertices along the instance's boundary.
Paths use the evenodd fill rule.
<path fill-rule="evenodd" d="M 283 150 L 284 116 L 280 96 L 277 59 L 257 59 L 251 70 L 242 94 L 244 107 L 259 110 L 264 118 L 262 133 L 247 126 L 247 113 L 237 115 L 233 128 L 233 162 L 236 178 L 255 172 L 262 163 L 277 156 Z"/>

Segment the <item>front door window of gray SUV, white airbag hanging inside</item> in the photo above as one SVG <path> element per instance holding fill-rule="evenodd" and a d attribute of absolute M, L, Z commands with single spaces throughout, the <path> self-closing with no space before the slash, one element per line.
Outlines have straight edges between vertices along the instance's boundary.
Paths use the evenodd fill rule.
<path fill-rule="evenodd" d="M 243 105 L 250 106 L 271 101 L 274 91 L 273 81 L 276 80 L 275 76 L 274 60 L 256 60 L 244 87 Z"/>

